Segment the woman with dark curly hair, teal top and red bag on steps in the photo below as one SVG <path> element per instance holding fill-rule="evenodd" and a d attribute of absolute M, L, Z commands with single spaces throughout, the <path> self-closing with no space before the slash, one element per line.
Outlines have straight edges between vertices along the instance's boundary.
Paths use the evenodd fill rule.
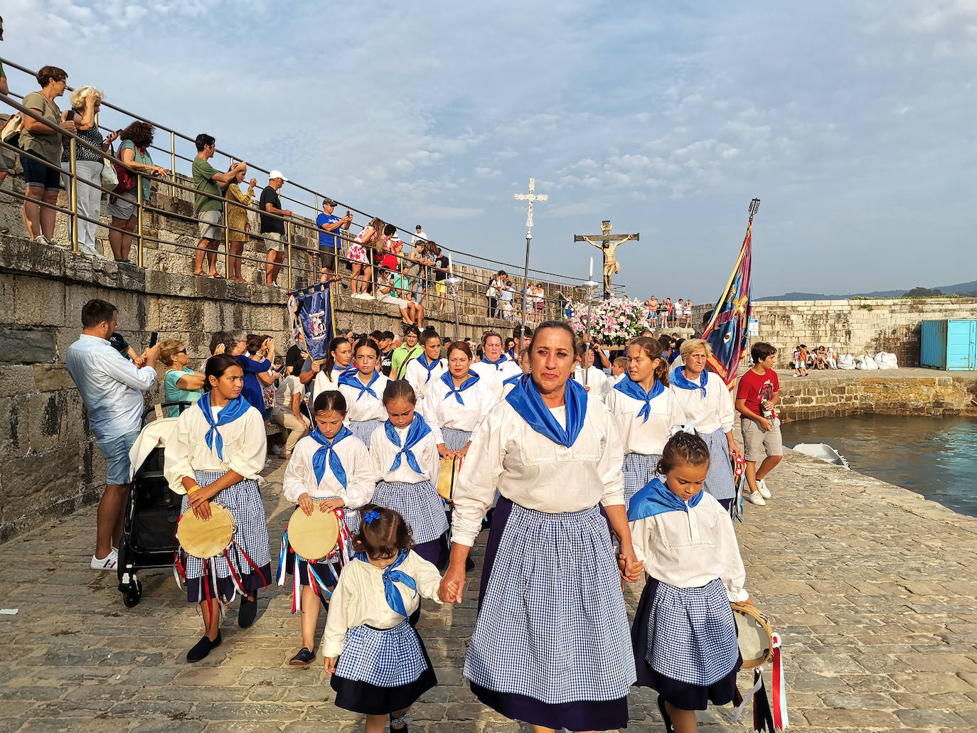
<path fill-rule="evenodd" d="M 165 176 L 169 171 L 152 164 L 149 146 L 152 145 L 152 125 L 148 122 L 133 122 L 119 133 L 122 141 L 119 146 L 118 158 L 133 173 L 147 173 L 139 176 L 143 185 L 143 202 L 149 201 L 151 182 L 149 176 Z M 128 171 L 127 171 L 128 173 Z M 119 176 L 122 186 L 124 176 Z M 106 214 L 112 218 L 108 230 L 108 245 L 112 248 L 112 256 L 116 262 L 129 262 L 129 250 L 132 248 L 132 237 L 139 226 L 139 212 L 136 210 L 139 194 L 136 193 L 137 176 L 130 174 L 132 188 L 128 193 L 122 193 L 116 188 L 117 194 L 109 194 Z"/>

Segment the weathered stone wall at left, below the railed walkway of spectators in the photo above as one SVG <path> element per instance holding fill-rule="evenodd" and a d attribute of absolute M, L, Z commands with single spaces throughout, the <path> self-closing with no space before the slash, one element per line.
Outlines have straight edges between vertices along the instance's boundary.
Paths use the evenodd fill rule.
<path fill-rule="evenodd" d="M 136 351 L 159 331 L 185 340 L 194 365 L 209 356 L 217 330 L 273 335 L 281 353 L 290 336 L 283 290 L 141 270 L 0 237 L 0 539 L 39 516 L 73 511 L 105 485 L 105 461 L 64 368 L 81 330 L 81 306 L 93 297 L 118 307 L 119 330 Z M 432 309 L 427 317 L 453 336 L 453 314 Z M 348 297 L 336 299 L 336 320 L 356 330 L 397 330 L 399 323 L 393 306 Z M 462 336 L 512 325 L 468 314 L 459 320 Z M 148 404 L 159 401 L 160 385 Z"/>

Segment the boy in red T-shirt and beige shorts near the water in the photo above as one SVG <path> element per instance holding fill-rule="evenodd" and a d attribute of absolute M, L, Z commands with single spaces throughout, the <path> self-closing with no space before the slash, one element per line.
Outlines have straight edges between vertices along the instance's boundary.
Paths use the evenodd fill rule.
<path fill-rule="evenodd" d="M 763 506 L 770 498 L 764 477 L 784 457 L 781 421 L 774 411 L 780 399 L 781 384 L 774 371 L 777 349 L 759 341 L 750 349 L 753 367 L 742 377 L 736 391 L 736 409 L 743 431 L 743 458 L 746 460 L 746 500 Z M 756 461 L 763 461 L 756 467 Z"/>

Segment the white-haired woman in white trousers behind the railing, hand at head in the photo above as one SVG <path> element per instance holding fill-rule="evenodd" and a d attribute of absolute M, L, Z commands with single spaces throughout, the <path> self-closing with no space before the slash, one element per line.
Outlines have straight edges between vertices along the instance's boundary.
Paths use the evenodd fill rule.
<path fill-rule="evenodd" d="M 78 87 L 68 98 L 71 108 L 62 113 L 62 122 L 74 122 L 75 134 L 94 148 L 108 150 L 117 132 L 102 137 L 99 126 L 95 121 L 102 101 L 106 96 L 101 90 L 93 86 Z M 64 142 L 62 153 L 62 169 L 65 171 L 64 190 L 71 191 L 71 158 L 70 145 Z M 77 177 L 76 200 L 78 202 L 78 248 L 85 254 L 100 254 L 95 249 L 95 229 L 98 227 L 99 216 L 102 214 L 102 191 L 97 188 L 102 185 L 103 157 L 96 151 L 75 144 L 74 172 Z M 71 218 L 67 220 L 68 236 L 71 236 Z"/>

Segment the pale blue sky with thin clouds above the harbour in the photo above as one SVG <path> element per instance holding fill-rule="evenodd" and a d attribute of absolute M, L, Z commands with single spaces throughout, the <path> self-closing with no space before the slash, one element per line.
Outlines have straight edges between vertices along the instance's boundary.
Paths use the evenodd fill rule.
<path fill-rule="evenodd" d="M 977 0 L 7 0 L 2 14 L 4 58 L 61 66 L 455 250 L 521 266 L 513 194 L 533 177 L 548 200 L 531 266 L 599 270 L 573 235 L 610 219 L 641 235 L 617 250 L 630 296 L 718 297 L 754 196 L 755 297 L 977 279 Z"/>

